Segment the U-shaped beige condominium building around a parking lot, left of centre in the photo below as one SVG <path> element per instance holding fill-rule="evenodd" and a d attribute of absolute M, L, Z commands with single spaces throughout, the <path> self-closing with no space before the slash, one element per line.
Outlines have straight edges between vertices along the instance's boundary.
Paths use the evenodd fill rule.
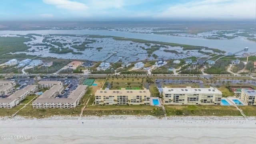
<path fill-rule="evenodd" d="M 63 88 L 63 86 L 62 86 Z M 84 96 L 87 85 L 79 85 L 67 98 L 56 98 L 63 91 L 60 85 L 53 86 L 50 92 L 44 92 L 33 103 L 33 108 L 74 108 Z"/>

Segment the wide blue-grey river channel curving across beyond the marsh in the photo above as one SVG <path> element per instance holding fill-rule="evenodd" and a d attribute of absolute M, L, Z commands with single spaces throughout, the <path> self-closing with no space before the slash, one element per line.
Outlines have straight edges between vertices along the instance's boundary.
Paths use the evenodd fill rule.
<path fill-rule="evenodd" d="M 244 47 L 249 47 L 247 52 L 255 52 L 256 43 L 246 40 L 245 37 L 239 36 L 231 40 L 210 40 L 204 38 L 191 38 L 180 36 L 167 36 L 158 34 L 141 34 L 132 32 L 120 31 L 104 31 L 104 30 L 24 30 L 24 31 L 10 31 L 2 30 L 0 34 L 98 34 L 106 36 L 121 36 L 126 38 L 138 38 L 144 40 L 154 40 L 161 42 L 172 42 L 178 44 L 190 44 L 196 46 L 207 46 L 209 48 L 218 48 L 226 52 L 236 52 L 242 50 Z"/>

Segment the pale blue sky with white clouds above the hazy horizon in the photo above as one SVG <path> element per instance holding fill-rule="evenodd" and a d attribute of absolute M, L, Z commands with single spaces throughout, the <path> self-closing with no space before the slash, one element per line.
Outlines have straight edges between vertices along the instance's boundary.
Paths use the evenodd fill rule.
<path fill-rule="evenodd" d="M 256 0 L 1 0 L 0 21 L 255 20 Z"/>

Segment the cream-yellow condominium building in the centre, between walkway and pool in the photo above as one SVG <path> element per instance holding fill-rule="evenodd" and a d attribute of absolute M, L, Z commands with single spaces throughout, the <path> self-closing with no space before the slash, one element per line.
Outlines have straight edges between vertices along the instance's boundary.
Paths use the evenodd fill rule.
<path fill-rule="evenodd" d="M 150 104 L 150 91 L 144 90 L 97 90 L 95 92 L 95 104 Z"/>

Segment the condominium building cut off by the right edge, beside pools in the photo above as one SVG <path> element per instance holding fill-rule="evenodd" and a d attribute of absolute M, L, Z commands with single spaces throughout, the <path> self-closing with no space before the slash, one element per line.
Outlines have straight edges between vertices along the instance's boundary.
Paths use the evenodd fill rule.
<path fill-rule="evenodd" d="M 240 99 L 248 105 L 256 105 L 255 96 L 256 96 L 256 90 L 242 89 Z"/>

